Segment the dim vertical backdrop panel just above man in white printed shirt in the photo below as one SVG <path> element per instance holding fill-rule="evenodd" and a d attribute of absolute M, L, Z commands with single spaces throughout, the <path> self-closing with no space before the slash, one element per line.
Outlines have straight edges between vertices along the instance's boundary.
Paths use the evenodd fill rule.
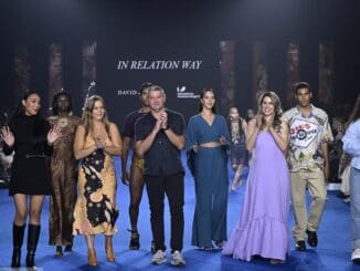
<path fill-rule="evenodd" d="M 294 85 L 300 80 L 299 73 L 299 61 L 300 61 L 300 49 L 299 44 L 290 42 L 287 48 L 287 58 L 286 58 L 286 107 L 292 107 L 295 103 L 294 98 Z"/>

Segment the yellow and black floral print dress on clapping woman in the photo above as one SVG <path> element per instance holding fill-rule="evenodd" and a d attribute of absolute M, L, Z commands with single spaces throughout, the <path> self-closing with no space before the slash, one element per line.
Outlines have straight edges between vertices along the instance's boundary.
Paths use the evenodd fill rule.
<path fill-rule="evenodd" d="M 87 136 L 85 148 L 93 144 L 92 136 Z M 82 160 L 78 169 L 73 234 L 112 236 L 117 231 L 117 217 L 113 158 L 103 149 L 97 149 Z"/>

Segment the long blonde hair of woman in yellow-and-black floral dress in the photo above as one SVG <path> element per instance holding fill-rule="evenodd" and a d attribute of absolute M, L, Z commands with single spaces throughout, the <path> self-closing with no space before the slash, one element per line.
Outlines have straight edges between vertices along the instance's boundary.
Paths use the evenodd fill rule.
<path fill-rule="evenodd" d="M 109 126 L 110 122 L 107 118 L 107 112 L 106 112 L 106 106 L 105 106 L 105 101 L 103 97 L 98 95 L 93 95 L 87 100 L 87 103 L 85 104 L 84 111 L 83 111 L 83 116 L 82 116 L 82 124 L 85 126 L 85 138 L 88 135 L 89 132 L 93 132 L 93 117 L 92 113 L 95 107 L 95 103 L 97 101 L 100 101 L 103 103 L 103 106 L 105 108 L 103 122 L 105 124 L 105 129 L 106 134 L 109 135 Z"/>

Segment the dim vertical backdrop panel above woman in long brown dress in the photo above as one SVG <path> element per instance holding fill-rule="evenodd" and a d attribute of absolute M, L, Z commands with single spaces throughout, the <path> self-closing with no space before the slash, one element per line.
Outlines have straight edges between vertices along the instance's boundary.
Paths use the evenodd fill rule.
<path fill-rule="evenodd" d="M 53 43 L 49 49 L 49 107 L 52 98 L 63 87 L 63 54 L 61 44 Z"/>

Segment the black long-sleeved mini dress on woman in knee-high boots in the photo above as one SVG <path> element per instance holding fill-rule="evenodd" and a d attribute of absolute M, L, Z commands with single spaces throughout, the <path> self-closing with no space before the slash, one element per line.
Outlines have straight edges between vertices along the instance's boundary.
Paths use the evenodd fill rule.
<path fill-rule="evenodd" d="M 21 114 L 11 119 L 9 127 L 15 139 L 12 148 L 3 144 L 6 155 L 14 150 L 9 195 L 50 195 L 52 188 L 47 156 L 52 147 L 46 140 L 50 124 L 41 116 Z"/>

